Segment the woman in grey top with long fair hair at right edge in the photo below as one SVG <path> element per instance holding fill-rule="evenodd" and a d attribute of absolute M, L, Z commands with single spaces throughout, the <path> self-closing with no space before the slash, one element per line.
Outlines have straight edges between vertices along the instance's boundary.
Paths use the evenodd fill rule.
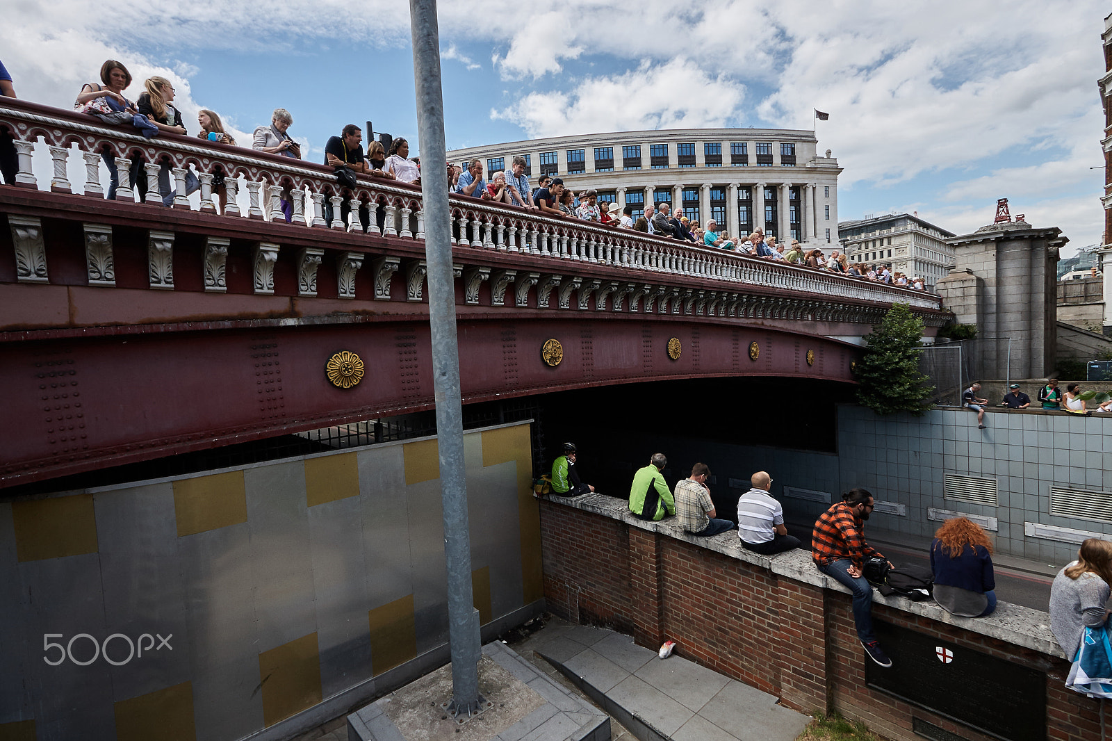
<path fill-rule="evenodd" d="M 1085 628 L 1105 625 L 1112 584 L 1112 542 L 1090 537 L 1081 544 L 1078 560 L 1058 572 L 1050 587 L 1050 629 L 1072 661 Z"/>

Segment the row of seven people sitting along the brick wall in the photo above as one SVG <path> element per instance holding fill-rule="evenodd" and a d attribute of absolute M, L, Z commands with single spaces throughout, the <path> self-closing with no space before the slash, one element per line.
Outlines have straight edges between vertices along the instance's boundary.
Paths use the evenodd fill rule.
<path fill-rule="evenodd" d="M 556 496 L 595 493 L 594 486 L 579 480 L 575 454 L 575 444 L 566 443 L 564 455 L 553 464 L 552 491 Z M 736 531 L 742 547 L 766 556 L 801 547 L 800 539 L 787 533 L 784 510 L 772 494 L 773 480 L 767 472 L 752 475 L 749 491 L 737 500 L 735 524 L 719 516 L 711 498 L 707 464 L 693 464 L 689 474 L 673 487 L 664 477 L 667 465 L 667 456 L 654 453 L 648 465 L 634 473 L 627 500 L 634 517 L 649 522 L 675 517 L 685 533 L 696 537 Z M 810 550 L 815 567 L 850 591 L 854 625 L 865 654 L 877 665 L 888 668 L 892 660 L 873 630 L 873 587 L 880 585 L 882 592 L 891 593 L 891 590 L 884 591 L 884 585 L 898 582 L 898 576 L 894 580 L 893 575 L 915 574 L 915 566 L 893 565 L 865 540 L 865 523 L 875 506 L 867 490 L 850 490 L 815 521 Z M 920 591 L 923 595 L 929 593 L 946 612 L 960 618 L 992 614 L 996 610 L 992 552 L 989 534 L 970 518 L 956 516 L 944 521 L 931 542 L 930 575 L 920 575 L 923 584 Z M 1076 685 L 1070 682 L 1068 685 L 1078 691 L 1092 689 L 1088 679 L 1093 675 L 1084 674 L 1082 666 L 1086 661 L 1082 651 L 1083 636 L 1108 634 L 1112 629 L 1112 612 L 1105 609 L 1110 585 L 1112 542 L 1100 539 L 1085 540 L 1078 560 L 1063 567 L 1052 584 L 1051 628 L 1066 656 L 1074 660 L 1071 682 Z M 1101 640 L 1106 643 L 1106 639 Z M 1095 670 L 1090 666 L 1090 671 Z M 1112 682 L 1112 678 L 1105 681 Z"/>

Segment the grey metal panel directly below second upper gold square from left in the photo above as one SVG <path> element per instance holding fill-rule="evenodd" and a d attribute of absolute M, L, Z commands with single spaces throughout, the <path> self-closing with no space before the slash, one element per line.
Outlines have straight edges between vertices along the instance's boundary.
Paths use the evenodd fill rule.
<path fill-rule="evenodd" d="M 197 738 L 232 741 L 262 728 L 248 524 L 179 537 L 178 553 Z"/>

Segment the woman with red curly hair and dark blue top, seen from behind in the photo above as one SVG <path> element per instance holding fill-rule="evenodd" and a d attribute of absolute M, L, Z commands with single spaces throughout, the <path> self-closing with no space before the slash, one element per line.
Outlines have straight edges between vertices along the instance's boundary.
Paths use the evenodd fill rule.
<path fill-rule="evenodd" d="M 992 542 L 966 517 L 942 523 L 931 543 L 934 600 L 954 615 L 984 618 L 996 609 Z"/>

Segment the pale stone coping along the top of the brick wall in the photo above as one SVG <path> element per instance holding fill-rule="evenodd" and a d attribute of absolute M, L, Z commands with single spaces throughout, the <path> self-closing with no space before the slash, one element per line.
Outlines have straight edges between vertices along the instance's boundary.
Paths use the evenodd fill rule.
<path fill-rule="evenodd" d="M 555 504 L 618 520 L 631 527 L 638 527 L 679 541 L 686 541 L 687 543 L 715 551 L 731 559 L 737 559 L 738 561 L 745 561 L 755 566 L 767 569 L 774 574 L 787 576 L 804 584 L 850 594 L 848 589 L 818 571 L 806 551 L 795 550 L 774 556 L 761 555 L 742 547 L 736 531 L 727 531 L 711 537 L 689 535 L 679 527 L 674 517 L 659 522 L 647 522 L 635 517 L 629 512 L 626 500 L 604 494 L 586 494 L 575 498 L 559 496 L 545 498 Z M 875 590 L 873 591 L 873 601 L 887 605 L 893 610 L 921 615 L 927 620 L 954 625 L 971 633 L 986 635 L 1025 649 L 1032 649 L 1040 653 L 1069 660 L 1050 630 L 1050 614 L 1041 610 L 1032 610 L 1031 607 L 1009 602 L 999 602 L 995 612 L 987 618 L 959 618 L 946 612 L 933 601 L 912 602 L 904 597 L 885 597 Z"/>

